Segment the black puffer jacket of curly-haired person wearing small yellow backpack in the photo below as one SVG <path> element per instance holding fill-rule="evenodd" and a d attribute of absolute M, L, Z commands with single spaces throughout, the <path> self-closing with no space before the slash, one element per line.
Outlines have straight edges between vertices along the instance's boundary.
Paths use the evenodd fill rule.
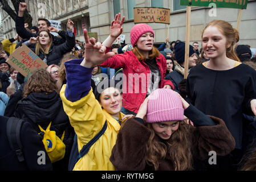
<path fill-rule="evenodd" d="M 63 139 L 66 145 L 65 156 L 62 160 L 53 163 L 52 166 L 54 170 L 67 170 L 75 133 L 67 114 L 63 110 L 59 95 L 56 92 L 30 93 L 29 96 L 18 102 L 14 115 L 31 122 L 38 133 L 40 133 L 38 125 L 45 130 L 50 122 L 52 122 L 50 130 L 56 131 L 59 138 L 65 131 Z"/>

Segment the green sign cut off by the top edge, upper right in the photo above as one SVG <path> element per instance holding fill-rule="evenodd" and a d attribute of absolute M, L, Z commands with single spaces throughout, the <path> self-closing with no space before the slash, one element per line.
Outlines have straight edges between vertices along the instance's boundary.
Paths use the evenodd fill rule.
<path fill-rule="evenodd" d="M 180 0 L 180 5 L 184 6 L 206 6 L 211 7 L 211 3 L 216 7 L 229 7 L 234 9 L 246 9 L 248 0 Z"/>

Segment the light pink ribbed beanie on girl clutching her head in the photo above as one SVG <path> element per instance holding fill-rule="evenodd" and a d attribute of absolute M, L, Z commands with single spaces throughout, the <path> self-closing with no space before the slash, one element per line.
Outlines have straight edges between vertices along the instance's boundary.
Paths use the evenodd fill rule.
<path fill-rule="evenodd" d="M 184 120 L 181 98 L 172 89 L 156 89 L 149 97 L 148 123 Z"/>

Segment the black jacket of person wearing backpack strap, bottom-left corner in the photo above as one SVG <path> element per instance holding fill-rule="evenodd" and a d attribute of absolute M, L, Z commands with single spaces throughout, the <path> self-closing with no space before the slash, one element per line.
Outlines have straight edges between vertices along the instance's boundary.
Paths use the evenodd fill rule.
<path fill-rule="evenodd" d="M 45 164 L 38 164 L 38 151 L 44 151 L 44 145 L 40 136 L 32 128 L 29 122 L 24 122 L 21 127 L 21 143 L 25 162 L 19 162 L 17 155 L 11 149 L 6 134 L 6 125 L 9 118 L 0 116 L 0 171 L 49 171 L 52 164 L 46 155 Z"/>

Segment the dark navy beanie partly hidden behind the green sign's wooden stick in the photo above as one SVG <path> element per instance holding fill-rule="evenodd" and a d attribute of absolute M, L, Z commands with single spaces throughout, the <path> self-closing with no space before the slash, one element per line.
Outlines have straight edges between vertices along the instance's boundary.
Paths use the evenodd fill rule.
<path fill-rule="evenodd" d="M 189 45 L 189 57 L 193 55 L 193 46 Z M 174 56 L 178 64 L 182 64 L 185 61 L 185 43 L 178 42 L 174 46 Z"/>

